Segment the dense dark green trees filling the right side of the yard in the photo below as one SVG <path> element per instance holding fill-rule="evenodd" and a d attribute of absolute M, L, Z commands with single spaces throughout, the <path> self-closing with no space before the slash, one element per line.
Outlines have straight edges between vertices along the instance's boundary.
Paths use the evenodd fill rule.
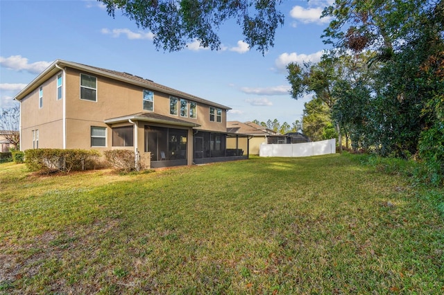
<path fill-rule="evenodd" d="M 442 184 L 444 1 L 336 0 L 323 16 L 334 49 L 289 64 L 293 98 L 315 93 L 355 149 L 425 161 Z"/>

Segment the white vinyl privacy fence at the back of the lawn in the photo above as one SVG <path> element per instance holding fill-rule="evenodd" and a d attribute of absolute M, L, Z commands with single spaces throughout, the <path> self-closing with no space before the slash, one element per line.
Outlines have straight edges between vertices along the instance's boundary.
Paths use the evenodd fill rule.
<path fill-rule="evenodd" d="M 259 157 L 309 157 L 336 153 L 336 138 L 313 143 L 291 143 L 259 147 Z"/>

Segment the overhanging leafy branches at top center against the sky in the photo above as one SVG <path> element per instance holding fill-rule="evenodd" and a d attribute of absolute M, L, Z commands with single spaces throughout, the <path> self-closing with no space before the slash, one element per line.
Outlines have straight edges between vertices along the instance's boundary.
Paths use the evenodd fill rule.
<path fill-rule="evenodd" d="M 278 10 L 281 0 L 99 0 L 108 14 L 117 10 L 154 35 L 156 48 L 179 51 L 187 42 L 217 50 L 221 40 L 217 30 L 229 19 L 236 19 L 244 41 L 264 54 L 274 45 L 284 15 Z"/>

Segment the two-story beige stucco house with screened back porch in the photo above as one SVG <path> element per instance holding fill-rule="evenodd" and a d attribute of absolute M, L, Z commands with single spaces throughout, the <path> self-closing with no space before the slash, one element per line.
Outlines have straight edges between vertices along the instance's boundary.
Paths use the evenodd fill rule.
<path fill-rule="evenodd" d="M 130 73 L 56 60 L 15 100 L 21 150 L 129 149 L 151 168 L 248 159 L 235 150 L 248 136 L 227 132 L 230 107 Z"/>

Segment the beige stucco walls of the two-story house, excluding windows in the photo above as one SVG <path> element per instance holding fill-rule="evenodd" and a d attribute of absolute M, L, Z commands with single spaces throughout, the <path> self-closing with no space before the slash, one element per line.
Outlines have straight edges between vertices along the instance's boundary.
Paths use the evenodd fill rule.
<path fill-rule="evenodd" d="M 60 71 L 59 73 L 62 73 Z M 80 73 L 92 75 L 97 78 L 96 101 L 80 99 Z M 119 125 L 130 125 L 129 122 L 117 125 L 107 125 L 104 120 L 118 118 L 145 112 L 143 109 L 143 90 L 153 89 L 138 87 L 133 84 L 121 82 L 93 75 L 77 69 L 65 69 L 63 87 L 65 88 L 63 97 L 57 100 L 57 73 L 42 84 L 43 86 L 43 107 L 39 109 L 39 89 L 35 89 L 26 98 L 22 99 L 22 150 L 33 148 L 32 131 L 39 130 L 39 147 L 63 148 L 63 104 L 65 104 L 65 126 L 66 126 L 66 148 L 80 148 L 94 150 L 109 150 L 112 148 L 125 148 L 134 150 L 134 147 L 112 147 L 112 127 Z M 225 132 L 227 111 L 222 109 L 222 122 L 210 121 L 210 105 L 197 102 L 197 118 L 188 118 L 169 114 L 170 95 L 160 91 L 154 93 L 154 113 L 178 118 L 190 123 L 201 125 L 198 129 Z M 180 96 L 177 96 L 180 99 Z M 188 100 L 193 101 L 193 100 Z M 179 105 L 180 110 L 180 105 Z M 149 154 L 144 153 L 144 125 L 154 125 L 146 122 L 139 122 L 137 129 L 138 146 L 137 150 L 141 157 L 146 159 Z M 106 127 L 106 146 L 91 147 L 91 127 Z M 175 127 L 174 125 L 162 125 L 163 127 Z M 184 129 L 184 127 L 178 127 Z M 188 154 L 189 164 L 193 158 L 193 132 L 188 130 Z"/>

